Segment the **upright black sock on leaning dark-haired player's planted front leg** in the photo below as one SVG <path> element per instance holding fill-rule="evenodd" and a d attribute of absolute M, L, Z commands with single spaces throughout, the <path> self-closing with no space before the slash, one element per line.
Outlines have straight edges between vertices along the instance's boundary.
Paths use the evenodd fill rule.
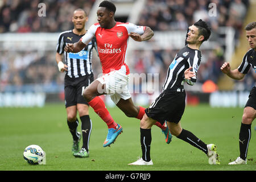
<path fill-rule="evenodd" d="M 141 129 L 142 159 L 150 162 L 151 129 Z"/>

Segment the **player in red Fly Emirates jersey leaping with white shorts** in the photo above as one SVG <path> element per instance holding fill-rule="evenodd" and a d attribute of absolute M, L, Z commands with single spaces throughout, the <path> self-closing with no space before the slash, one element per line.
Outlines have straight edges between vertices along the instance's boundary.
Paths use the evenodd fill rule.
<path fill-rule="evenodd" d="M 149 40 L 154 35 L 150 27 L 136 26 L 132 23 L 115 22 L 115 5 L 109 1 L 103 1 L 97 10 L 98 23 L 93 24 L 86 34 L 75 44 L 67 44 L 65 51 L 79 52 L 93 37 L 96 37 L 98 54 L 100 57 L 102 72 L 104 75 L 94 80 L 83 93 L 84 98 L 101 119 L 108 125 L 108 135 L 103 144 L 104 147 L 112 144 L 122 127 L 114 121 L 104 102 L 100 97 L 108 94 L 115 105 L 127 115 L 142 119 L 145 111 L 141 106 L 135 106 L 129 92 L 129 67 L 126 65 L 126 51 L 129 37 L 141 42 Z M 171 142 L 171 133 L 168 127 L 156 122 L 166 137 L 166 142 Z"/>

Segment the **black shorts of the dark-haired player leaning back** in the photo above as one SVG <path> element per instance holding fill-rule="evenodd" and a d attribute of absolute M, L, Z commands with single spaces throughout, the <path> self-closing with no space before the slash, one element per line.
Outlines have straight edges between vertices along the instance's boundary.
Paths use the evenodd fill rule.
<path fill-rule="evenodd" d="M 162 125 L 164 121 L 179 123 L 185 110 L 185 91 L 177 92 L 164 90 L 158 98 L 145 109 L 148 117 L 155 119 Z"/>

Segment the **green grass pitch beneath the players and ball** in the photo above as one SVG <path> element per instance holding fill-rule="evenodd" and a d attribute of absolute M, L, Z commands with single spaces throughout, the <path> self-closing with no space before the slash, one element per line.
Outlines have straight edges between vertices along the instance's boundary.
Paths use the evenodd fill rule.
<path fill-rule="evenodd" d="M 242 108 L 211 108 L 208 105 L 187 106 L 181 126 L 205 143 L 217 144 L 220 165 L 209 165 L 207 156 L 183 140 L 164 141 L 164 134 L 152 128 L 151 159 L 153 166 L 128 166 L 141 156 L 139 121 L 127 118 L 117 107 L 110 114 L 123 127 L 123 133 L 111 147 L 102 147 L 107 135 L 106 124 L 90 108 L 92 134 L 89 158 L 74 158 L 64 104 L 42 108 L 0 108 L 0 170 L 1 171 L 255 171 L 255 123 L 247 165 L 229 166 L 239 156 L 238 133 Z M 78 131 L 81 131 L 81 122 Z M 23 150 L 38 144 L 46 151 L 47 164 L 31 166 L 23 159 Z M 81 146 L 81 143 L 80 143 Z"/>

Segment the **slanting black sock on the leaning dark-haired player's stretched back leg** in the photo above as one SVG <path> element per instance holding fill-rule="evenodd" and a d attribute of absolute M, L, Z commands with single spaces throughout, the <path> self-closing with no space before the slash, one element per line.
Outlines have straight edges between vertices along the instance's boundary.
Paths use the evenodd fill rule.
<path fill-rule="evenodd" d="M 180 135 L 177 136 L 177 138 L 184 140 L 185 142 L 188 142 L 192 146 L 198 148 L 199 150 L 205 152 L 205 154 L 208 153 L 207 144 L 205 144 L 203 141 L 201 141 L 199 138 L 197 138 L 194 134 L 192 134 L 190 131 L 182 130 Z"/>

